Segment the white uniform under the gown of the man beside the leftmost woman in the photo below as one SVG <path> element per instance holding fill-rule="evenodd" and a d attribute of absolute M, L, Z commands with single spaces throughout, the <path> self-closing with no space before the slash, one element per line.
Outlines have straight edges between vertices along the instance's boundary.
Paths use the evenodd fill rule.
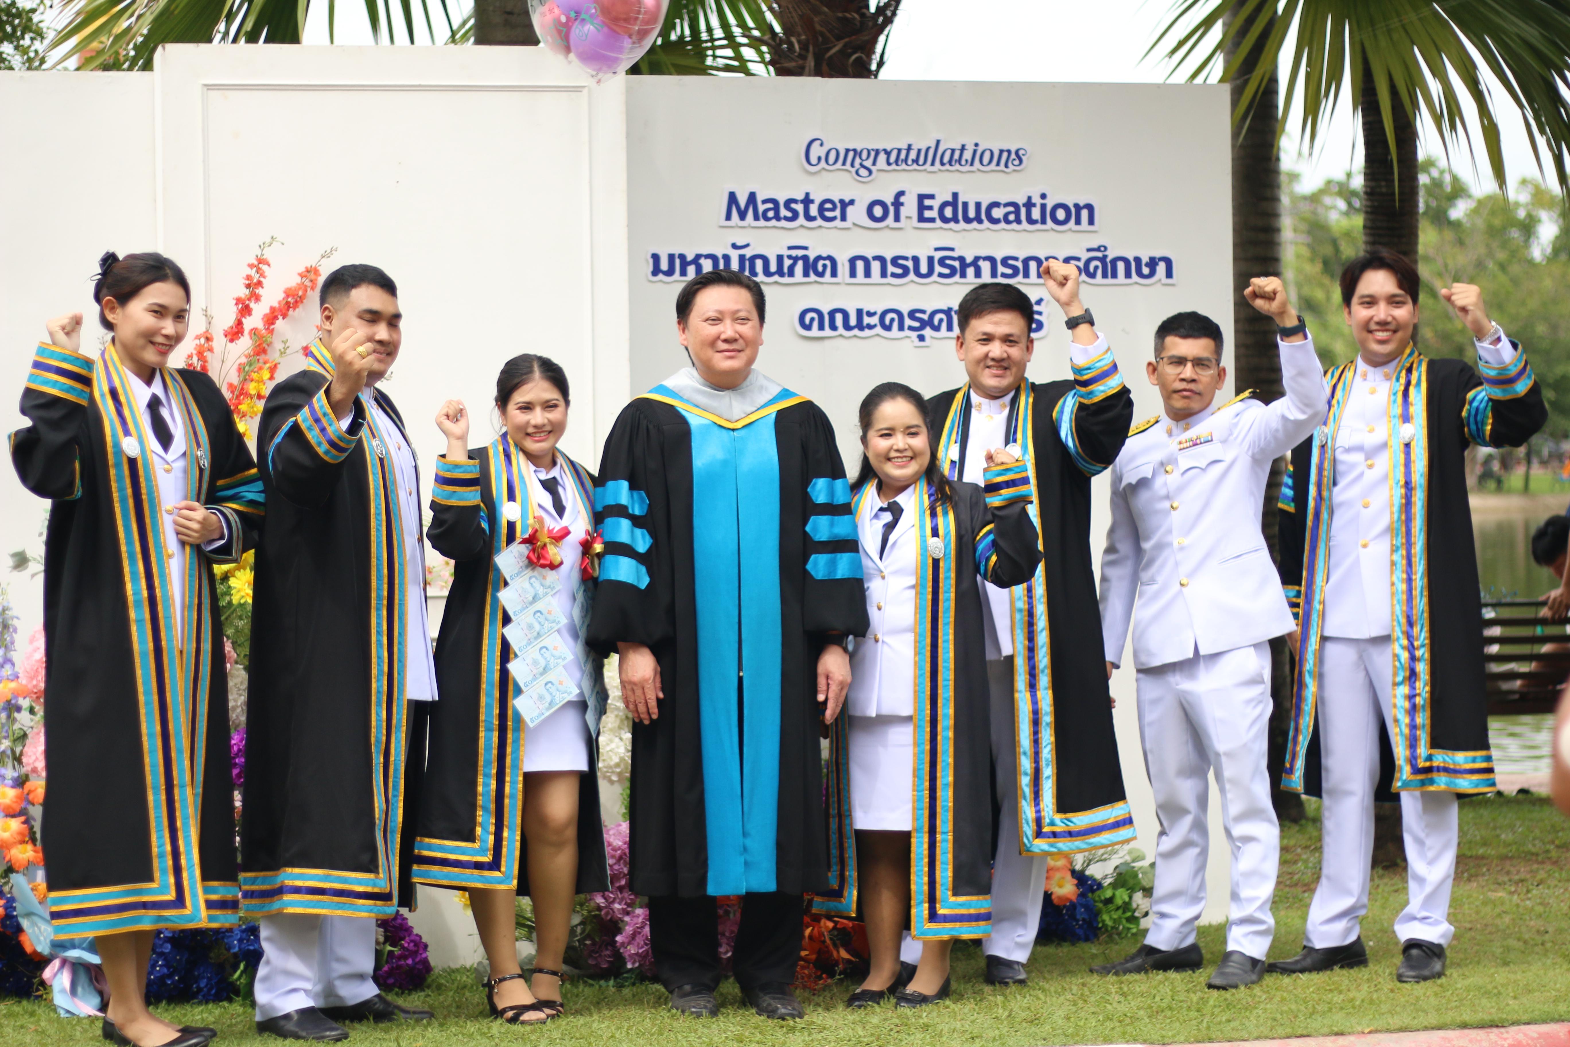
<path fill-rule="evenodd" d="M 366 389 L 364 399 L 377 425 L 388 435 L 388 457 L 397 479 L 399 518 L 403 526 L 403 557 L 410 579 L 408 636 L 403 655 L 403 697 L 436 700 L 436 662 L 425 617 L 425 534 L 419 493 L 419 465 L 392 416 Z M 353 414 L 339 421 L 349 425 Z M 366 435 L 369 440 L 369 433 Z M 413 598 L 416 596 L 418 598 Z M 256 970 L 256 1020 L 301 1008 L 352 1006 L 382 992 L 372 981 L 377 962 L 377 921 L 371 917 L 319 917 L 278 912 L 261 918 L 262 962 Z"/>

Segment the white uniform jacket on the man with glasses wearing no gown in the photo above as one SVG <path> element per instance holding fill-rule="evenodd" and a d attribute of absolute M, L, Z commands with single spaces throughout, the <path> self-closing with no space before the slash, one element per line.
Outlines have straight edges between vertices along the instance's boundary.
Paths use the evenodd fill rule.
<path fill-rule="evenodd" d="M 1292 631 L 1259 513 L 1272 460 L 1325 421 L 1330 389 L 1313 341 L 1280 350 L 1280 400 L 1243 394 L 1184 422 L 1157 416 L 1130 430 L 1112 466 L 1101 556 L 1107 661 L 1123 661 L 1135 601 L 1135 669 Z"/>

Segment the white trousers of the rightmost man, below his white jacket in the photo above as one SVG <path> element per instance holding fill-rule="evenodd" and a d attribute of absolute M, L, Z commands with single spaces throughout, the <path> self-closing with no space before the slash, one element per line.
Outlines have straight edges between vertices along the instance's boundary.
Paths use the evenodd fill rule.
<path fill-rule="evenodd" d="M 1389 637 L 1327 636 L 1319 644 L 1319 664 L 1324 859 L 1303 942 L 1334 948 L 1358 937 L 1360 920 L 1369 909 L 1380 716 L 1385 730 L 1394 735 Z M 1460 835 L 1455 793 L 1400 793 L 1400 821 L 1407 907 L 1396 918 L 1396 937 L 1449 945 L 1455 934 L 1448 917 Z"/>

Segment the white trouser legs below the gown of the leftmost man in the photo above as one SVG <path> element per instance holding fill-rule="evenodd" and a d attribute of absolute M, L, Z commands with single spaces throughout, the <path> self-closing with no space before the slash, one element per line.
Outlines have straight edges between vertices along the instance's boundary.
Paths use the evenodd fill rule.
<path fill-rule="evenodd" d="M 279 912 L 262 917 L 256 1020 L 301 1008 L 341 1008 L 377 995 L 374 917 Z"/>

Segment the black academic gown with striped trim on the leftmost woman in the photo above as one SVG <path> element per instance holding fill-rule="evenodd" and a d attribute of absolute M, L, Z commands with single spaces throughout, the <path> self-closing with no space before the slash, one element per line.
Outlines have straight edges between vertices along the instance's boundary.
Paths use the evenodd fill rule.
<path fill-rule="evenodd" d="M 42 849 L 61 937 L 234 923 L 229 688 L 214 562 L 256 543 L 262 488 L 218 386 L 163 370 L 190 501 L 229 538 L 188 548 L 173 620 L 152 433 L 113 344 L 39 345 L 11 433 L 22 485 L 52 499 L 44 540 L 49 790 Z"/>

